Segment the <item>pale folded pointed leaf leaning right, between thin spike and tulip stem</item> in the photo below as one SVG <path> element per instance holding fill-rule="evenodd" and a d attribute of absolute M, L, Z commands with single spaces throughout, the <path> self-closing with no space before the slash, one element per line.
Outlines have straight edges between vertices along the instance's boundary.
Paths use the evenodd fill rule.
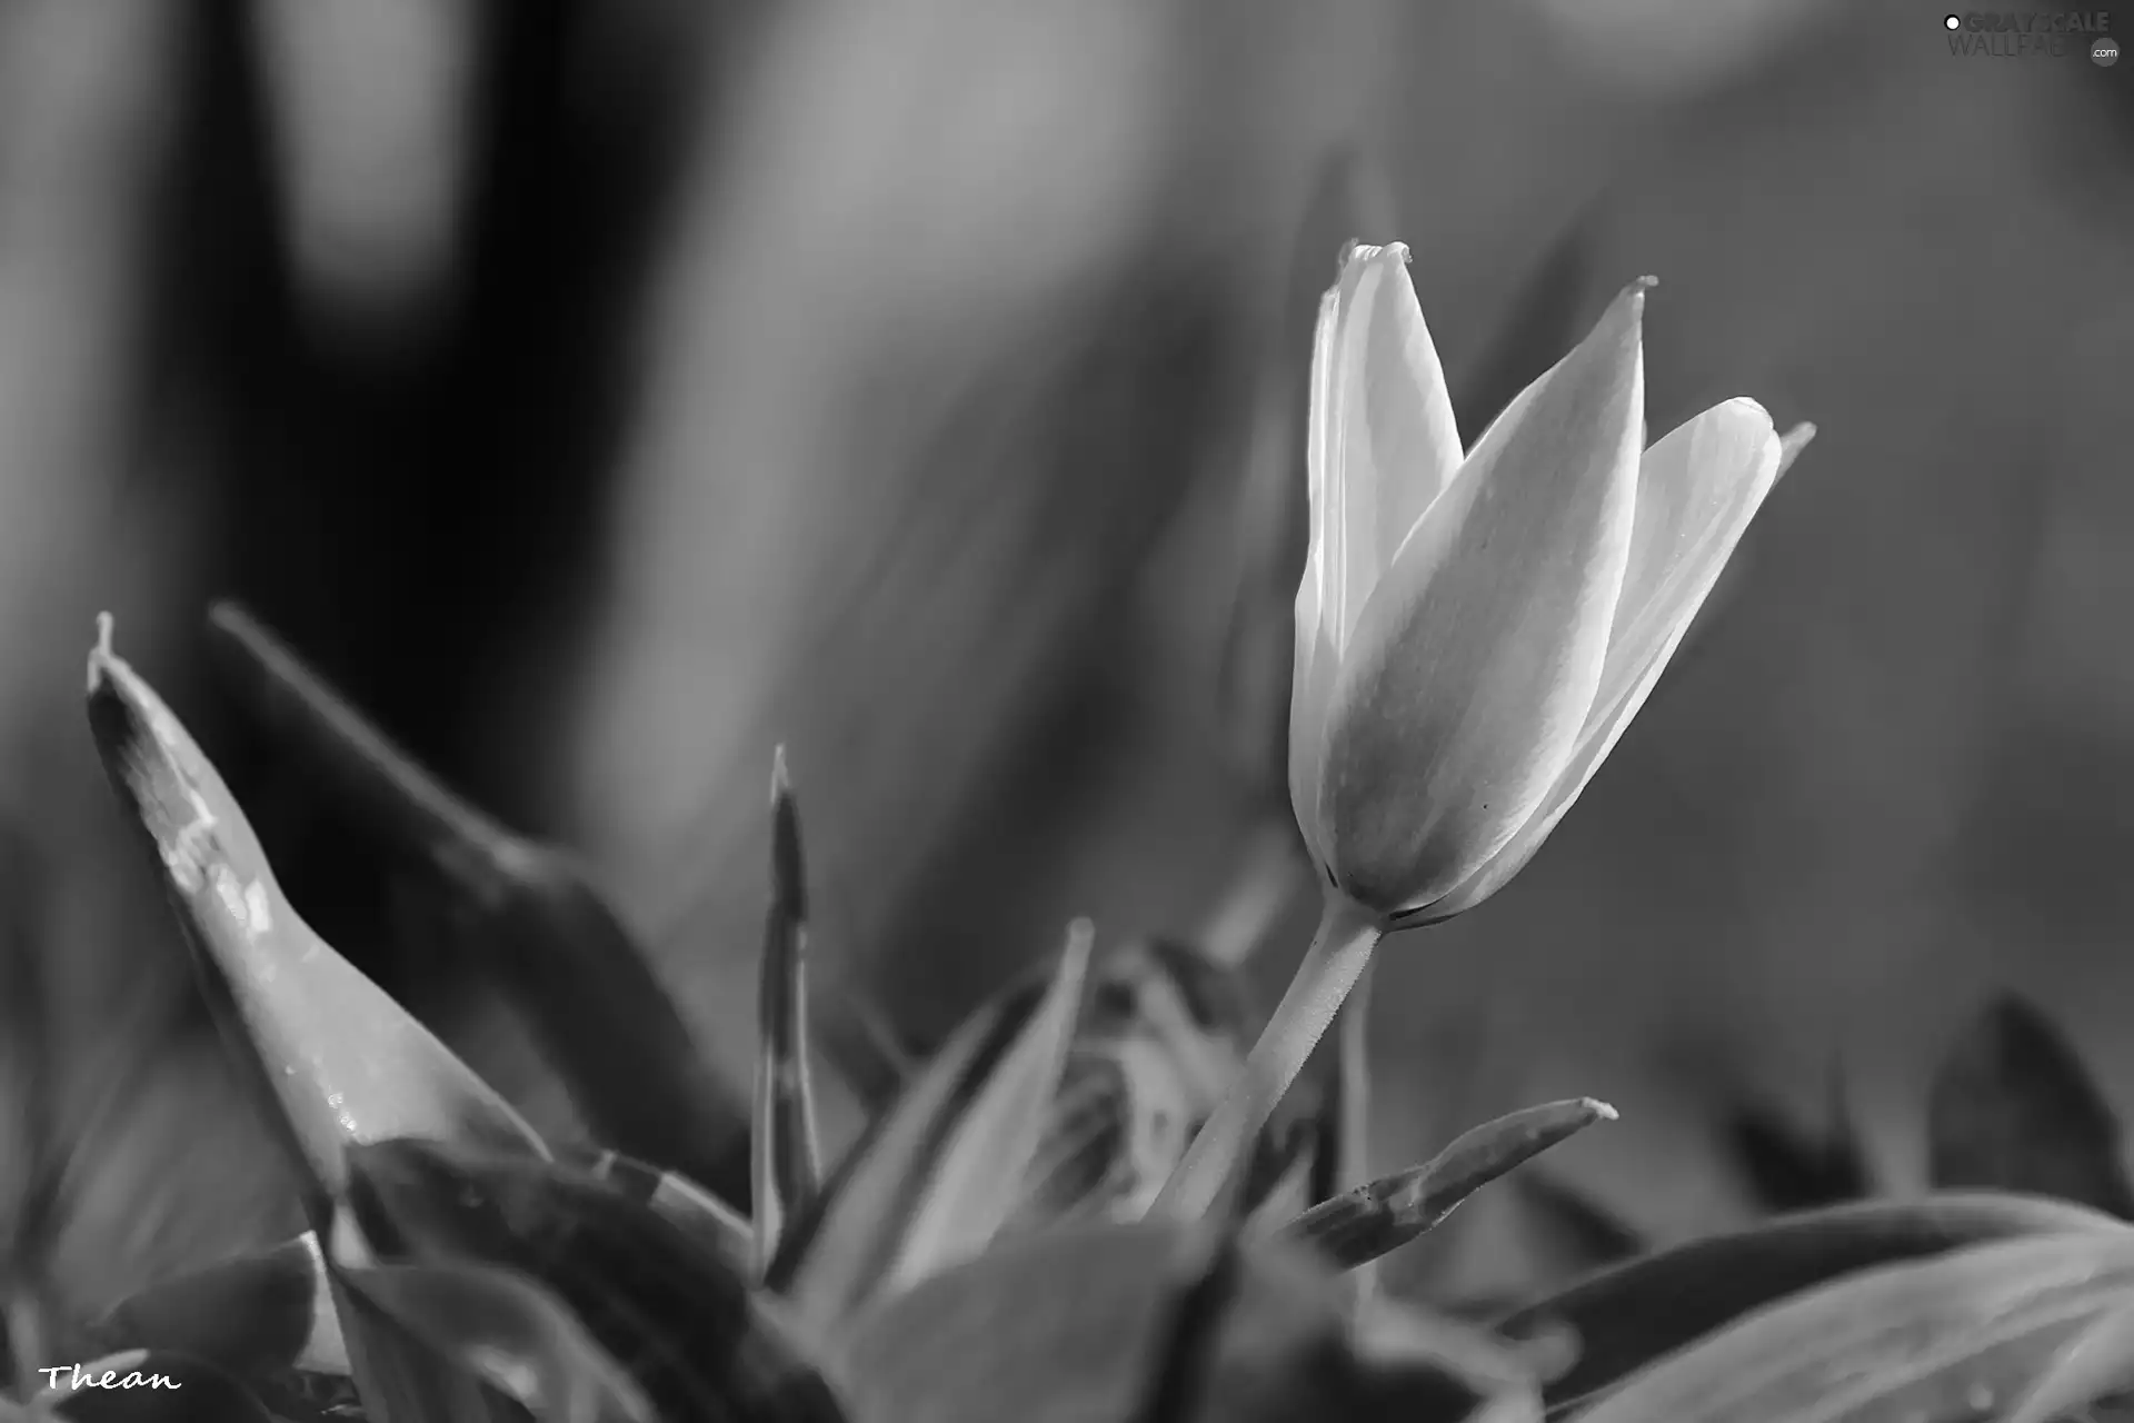
<path fill-rule="evenodd" d="M 1009 990 L 973 1013 L 796 1220 L 766 1282 L 813 1327 L 984 1248 L 1014 1216 L 1052 1120 L 1088 949 L 1090 928 L 1076 924 L 1039 1003 Z"/>

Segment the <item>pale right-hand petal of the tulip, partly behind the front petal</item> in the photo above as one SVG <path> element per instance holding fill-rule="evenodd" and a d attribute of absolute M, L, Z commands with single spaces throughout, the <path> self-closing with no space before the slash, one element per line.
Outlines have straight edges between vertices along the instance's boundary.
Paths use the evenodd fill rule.
<path fill-rule="evenodd" d="M 1466 913 L 1526 868 L 1645 706 L 1750 518 L 1810 437 L 1814 427 L 1803 425 L 1780 442 L 1763 405 L 1733 399 L 1645 452 L 1639 527 L 1630 533 L 1633 567 L 1615 610 L 1609 666 L 1577 751 L 1496 860 L 1432 905 L 1417 924 Z"/>

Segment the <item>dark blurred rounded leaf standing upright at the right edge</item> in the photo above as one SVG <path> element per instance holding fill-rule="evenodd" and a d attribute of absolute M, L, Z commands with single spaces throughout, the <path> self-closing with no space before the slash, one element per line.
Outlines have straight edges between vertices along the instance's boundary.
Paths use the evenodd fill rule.
<path fill-rule="evenodd" d="M 2134 1218 L 2119 1122 L 2053 1020 L 2017 996 L 1957 1041 L 1927 1118 L 1936 1186 L 2051 1195 Z"/>

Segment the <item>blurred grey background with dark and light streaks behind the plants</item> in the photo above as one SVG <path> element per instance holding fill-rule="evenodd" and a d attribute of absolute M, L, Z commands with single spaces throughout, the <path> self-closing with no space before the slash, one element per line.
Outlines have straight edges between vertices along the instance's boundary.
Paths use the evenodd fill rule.
<path fill-rule="evenodd" d="M 1641 273 L 1656 433 L 1820 429 L 1532 868 L 1387 943 L 1374 1165 L 1590 1092 L 1551 1163 L 1677 1240 L 1743 1210 L 1726 1112 L 1842 1080 L 1904 1186 L 2002 984 L 2134 1105 L 2134 66 L 1914 0 L 0 0 L 0 990 L 60 1048 L 0 1069 L 0 1225 L 68 1141 L 94 1308 L 284 1193 L 83 730 L 98 610 L 536 1120 L 211 597 L 580 851 L 736 1082 L 777 742 L 826 1033 L 924 1048 L 1076 913 L 1227 932 L 1291 834 L 1253 649 L 1336 151 L 1470 435 Z M 1545 1272 L 1500 1195 L 1400 1269 Z"/>

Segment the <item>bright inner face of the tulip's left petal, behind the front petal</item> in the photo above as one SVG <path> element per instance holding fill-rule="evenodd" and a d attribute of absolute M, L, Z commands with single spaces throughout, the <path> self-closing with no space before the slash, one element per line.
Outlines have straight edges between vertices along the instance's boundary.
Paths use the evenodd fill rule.
<path fill-rule="evenodd" d="M 1306 459 L 1325 499 L 1325 612 L 1344 649 L 1394 550 L 1460 469 L 1460 427 L 1408 250 L 1357 245 L 1319 316 Z"/>

